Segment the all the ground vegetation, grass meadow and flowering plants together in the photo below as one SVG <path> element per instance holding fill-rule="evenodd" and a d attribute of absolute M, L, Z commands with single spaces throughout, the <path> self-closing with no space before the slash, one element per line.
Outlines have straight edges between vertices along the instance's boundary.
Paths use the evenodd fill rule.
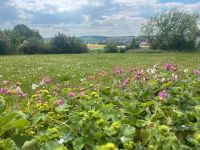
<path fill-rule="evenodd" d="M 198 53 L 1 57 L 0 149 L 198 149 L 199 61 Z"/>

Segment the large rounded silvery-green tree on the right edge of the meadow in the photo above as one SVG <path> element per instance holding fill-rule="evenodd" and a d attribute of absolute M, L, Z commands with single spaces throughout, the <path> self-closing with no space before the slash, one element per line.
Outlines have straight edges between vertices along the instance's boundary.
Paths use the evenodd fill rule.
<path fill-rule="evenodd" d="M 198 18 L 196 14 L 171 10 L 150 18 L 142 26 L 142 32 L 154 49 L 193 49 Z"/>

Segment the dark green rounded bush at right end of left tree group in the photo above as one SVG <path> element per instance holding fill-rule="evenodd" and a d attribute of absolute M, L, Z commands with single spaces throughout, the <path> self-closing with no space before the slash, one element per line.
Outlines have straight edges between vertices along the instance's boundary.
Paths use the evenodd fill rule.
<path fill-rule="evenodd" d="M 87 46 L 83 44 L 80 39 L 61 33 L 58 33 L 58 35 L 52 39 L 51 44 L 54 52 L 57 54 L 84 53 L 88 51 Z"/>

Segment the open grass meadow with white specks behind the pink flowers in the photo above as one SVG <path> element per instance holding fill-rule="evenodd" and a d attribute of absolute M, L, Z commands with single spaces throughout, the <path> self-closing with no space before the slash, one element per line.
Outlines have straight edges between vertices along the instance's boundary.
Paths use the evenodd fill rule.
<path fill-rule="evenodd" d="M 1 56 L 0 75 L 1 80 L 19 80 L 27 86 L 44 76 L 56 81 L 79 80 L 97 70 L 112 70 L 114 65 L 151 67 L 164 63 L 176 63 L 182 69 L 200 68 L 200 53 Z"/>

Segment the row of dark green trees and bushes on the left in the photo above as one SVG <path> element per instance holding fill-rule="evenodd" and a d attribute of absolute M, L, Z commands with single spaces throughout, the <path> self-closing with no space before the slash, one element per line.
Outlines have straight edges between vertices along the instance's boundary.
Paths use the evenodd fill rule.
<path fill-rule="evenodd" d="M 45 41 L 38 30 L 21 24 L 13 29 L 0 30 L 0 54 L 65 54 L 84 53 L 87 46 L 74 36 L 58 33 Z"/>

